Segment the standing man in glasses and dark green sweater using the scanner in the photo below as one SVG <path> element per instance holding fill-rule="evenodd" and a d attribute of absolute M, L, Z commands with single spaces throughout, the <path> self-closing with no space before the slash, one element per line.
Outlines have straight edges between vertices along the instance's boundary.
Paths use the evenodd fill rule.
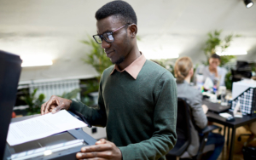
<path fill-rule="evenodd" d="M 166 159 L 177 140 L 172 74 L 137 48 L 137 16 L 130 4 L 107 3 L 96 12 L 96 20 L 94 38 L 115 64 L 102 73 L 98 108 L 52 96 L 42 105 L 42 114 L 76 110 L 92 125 L 106 127 L 109 141 L 83 147 L 79 159 Z"/>

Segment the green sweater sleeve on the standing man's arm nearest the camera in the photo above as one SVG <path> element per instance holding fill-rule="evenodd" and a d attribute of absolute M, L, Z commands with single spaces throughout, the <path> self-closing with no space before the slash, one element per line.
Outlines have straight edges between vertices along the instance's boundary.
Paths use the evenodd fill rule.
<path fill-rule="evenodd" d="M 123 160 L 160 159 L 176 144 L 177 86 L 172 74 L 162 74 L 154 89 L 153 135 L 149 140 L 119 147 Z"/>

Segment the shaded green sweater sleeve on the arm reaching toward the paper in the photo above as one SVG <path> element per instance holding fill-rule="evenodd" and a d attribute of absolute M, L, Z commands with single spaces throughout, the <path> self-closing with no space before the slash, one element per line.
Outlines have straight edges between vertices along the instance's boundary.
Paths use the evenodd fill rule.
<path fill-rule="evenodd" d="M 102 79 L 99 87 L 99 98 L 97 107 L 92 108 L 84 105 L 82 102 L 72 100 L 69 110 L 75 110 L 82 113 L 91 125 L 106 127 L 107 115 L 104 101 L 102 98 Z"/>

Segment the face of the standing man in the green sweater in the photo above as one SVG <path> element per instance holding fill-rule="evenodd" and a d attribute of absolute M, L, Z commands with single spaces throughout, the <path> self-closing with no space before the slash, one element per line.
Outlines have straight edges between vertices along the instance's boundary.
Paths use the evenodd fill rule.
<path fill-rule="evenodd" d="M 97 33 L 102 34 L 104 32 L 114 31 L 124 25 L 125 24 L 121 23 L 117 17 L 109 16 L 97 21 Z M 102 49 L 105 50 L 105 53 L 113 64 L 122 63 L 131 50 L 131 43 L 126 30 L 127 27 L 124 27 L 119 31 L 114 31 L 113 43 L 107 43 L 105 40 L 102 40 Z"/>

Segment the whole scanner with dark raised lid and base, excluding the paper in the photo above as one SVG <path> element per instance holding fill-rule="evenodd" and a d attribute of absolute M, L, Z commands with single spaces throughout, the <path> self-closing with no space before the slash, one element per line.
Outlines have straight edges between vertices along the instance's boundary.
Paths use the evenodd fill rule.
<path fill-rule="evenodd" d="M 15 96 L 21 71 L 20 56 L 0 50 L 0 159 L 23 160 L 23 159 L 76 159 L 76 153 L 81 147 L 95 145 L 96 140 L 83 129 L 72 129 L 59 134 L 53 134 L 39 140 L 32 140 L 20 145 L 9 146 L 6 142 L 9 123 L 15 123 L 28 118 L 16 117 L 11 119 Z M 83 115 L 77 111 L 68 111 L 73 117 L 78 118 L 90 126 Z"/>

